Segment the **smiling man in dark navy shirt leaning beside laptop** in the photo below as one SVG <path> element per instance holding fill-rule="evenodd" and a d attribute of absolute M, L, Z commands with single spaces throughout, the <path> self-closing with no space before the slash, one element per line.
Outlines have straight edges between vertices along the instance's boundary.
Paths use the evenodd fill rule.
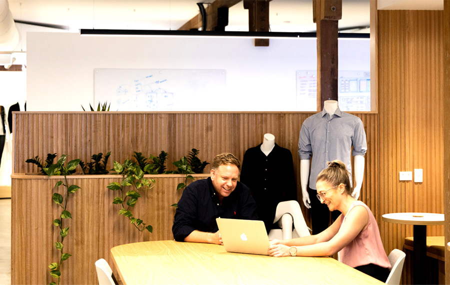
<path fill-rule="evenodd" d="M 178 201 L 172 226 L 177 241 L 222 244 L 217 217 L 257 219 L 250 189 L 237 181 L 240 161 L 221 153 L 211 166 L 211 176 L 190 183 Z"/>

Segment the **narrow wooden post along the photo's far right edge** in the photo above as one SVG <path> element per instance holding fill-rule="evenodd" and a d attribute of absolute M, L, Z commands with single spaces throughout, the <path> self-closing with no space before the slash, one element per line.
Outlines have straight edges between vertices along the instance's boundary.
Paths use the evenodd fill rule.
<path fill-rule="evenodd" d="M 445 244 L 450 241 L 450 2 L 443 10 L 443 192 Z M 450 251 L 445 250 L 445 284 L 450 284 Z"/>

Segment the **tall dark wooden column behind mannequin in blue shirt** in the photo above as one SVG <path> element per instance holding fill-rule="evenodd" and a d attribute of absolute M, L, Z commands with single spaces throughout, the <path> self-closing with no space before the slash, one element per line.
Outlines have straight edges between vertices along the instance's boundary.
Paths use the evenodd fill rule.
<path fill-rule="evenodd" d="M 317 103 L 337 101 L 337 21 L 342 17 L 342 0 L 313 0 L 313 21 L 317 25 Z"/>

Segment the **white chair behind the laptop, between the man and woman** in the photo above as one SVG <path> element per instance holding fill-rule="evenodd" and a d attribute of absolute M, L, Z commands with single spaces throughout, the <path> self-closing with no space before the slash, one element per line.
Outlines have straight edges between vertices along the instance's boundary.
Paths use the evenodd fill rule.
<path fill-rule="evenodd" d="M 280 229 L 271 229 L 268 234 L 269 239 L 289 239 L 311 234 L 311 229 L 306 225 L 301 212 L 300 204 L 295 200 L 278 203 L 273 223 L 278 223 Z"/>

